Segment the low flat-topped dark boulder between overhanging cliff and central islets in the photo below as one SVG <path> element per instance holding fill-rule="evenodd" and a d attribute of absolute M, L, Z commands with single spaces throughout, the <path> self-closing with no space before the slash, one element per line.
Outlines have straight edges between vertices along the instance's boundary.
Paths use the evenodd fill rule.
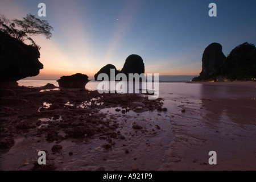
<path fill-rule="evenodd" d="M 81 88 L 81 89 L 84 89 L 85 85 L 89 81 L 90 80 L 88 80 L 88 76 L 81 73 L 76 73 L 75 75 L 71 75 L 71 76 L 62 76 L 60 77 L 59 80 L 57 80 L 60 87 Z"/>

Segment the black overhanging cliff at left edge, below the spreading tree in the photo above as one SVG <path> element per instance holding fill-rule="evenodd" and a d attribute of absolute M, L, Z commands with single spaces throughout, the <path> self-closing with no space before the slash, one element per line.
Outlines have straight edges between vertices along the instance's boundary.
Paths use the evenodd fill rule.
<path fill-rule="evenodd" d="M 43 64 L 38 48 L 28 46 L 0 32 L 0 86 L 18 86 L 18 80 L 37 76 Z"/>

